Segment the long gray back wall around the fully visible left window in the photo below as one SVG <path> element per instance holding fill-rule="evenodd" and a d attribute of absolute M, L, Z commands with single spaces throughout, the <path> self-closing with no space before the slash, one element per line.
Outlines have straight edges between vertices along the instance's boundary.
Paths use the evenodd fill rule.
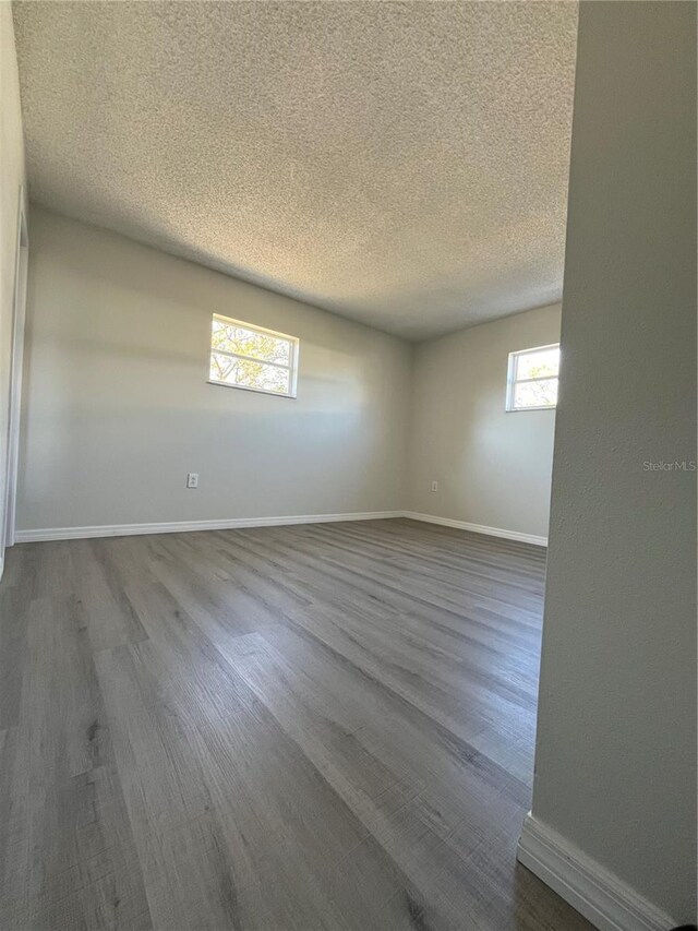
<path fill-rule="evenodd" d="M 300 337 L 297 399 L 207 383 L 214 311 Z M 397 509 L 410 361 L 398 337 L 33 210 L 17 526 Z"/>

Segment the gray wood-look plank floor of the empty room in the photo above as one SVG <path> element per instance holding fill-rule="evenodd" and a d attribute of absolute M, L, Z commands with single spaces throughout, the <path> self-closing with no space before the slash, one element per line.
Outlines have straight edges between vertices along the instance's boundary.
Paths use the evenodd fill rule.
<path fill-rule="evenodd" d="M 14 547 L 0 928 L 588 931 L 515 862 L 543 573 L 405 520 Z"/>

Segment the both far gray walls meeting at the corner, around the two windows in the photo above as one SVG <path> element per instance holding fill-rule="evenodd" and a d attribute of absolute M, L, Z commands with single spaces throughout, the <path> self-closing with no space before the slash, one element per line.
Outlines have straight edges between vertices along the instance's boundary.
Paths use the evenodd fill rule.
<path fill-rule="evenodd" d="M 40 208 L 32 229 L 21 530 L 408 508 L 546 535 L 555 415 L 504 403 L 559 306 L 411 347 Z M 297 401 L 206 383 L 214 311 L 301 337 Z"/>

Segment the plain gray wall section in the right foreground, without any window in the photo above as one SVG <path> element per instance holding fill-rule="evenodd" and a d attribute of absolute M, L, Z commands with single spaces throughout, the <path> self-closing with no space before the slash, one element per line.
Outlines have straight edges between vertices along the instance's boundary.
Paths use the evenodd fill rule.
<path fill-rule="evenodd" d="M 562 345 L 532 814 L 690 921 L 694 3 L 580 4 Z"/>

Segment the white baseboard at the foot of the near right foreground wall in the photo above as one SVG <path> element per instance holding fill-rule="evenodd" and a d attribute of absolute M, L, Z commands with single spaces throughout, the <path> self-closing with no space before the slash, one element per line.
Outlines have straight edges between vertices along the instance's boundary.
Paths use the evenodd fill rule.
<path fill-rule="evenodd" d="M 667 931 L 678 924 L 531 812 L 517 859 L 600 931 Z"/>

